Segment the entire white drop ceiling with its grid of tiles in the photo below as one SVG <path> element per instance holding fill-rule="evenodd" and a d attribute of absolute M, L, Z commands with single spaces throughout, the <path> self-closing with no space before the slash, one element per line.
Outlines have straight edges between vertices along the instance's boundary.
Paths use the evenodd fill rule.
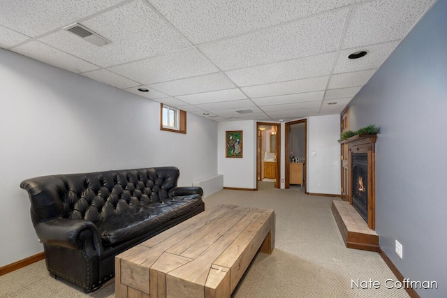
<path fill-rule="evenodd" d="M 214 121 L 300 119 L 339 114 L 435 1 L 3 0 L 0 47 Z"/>

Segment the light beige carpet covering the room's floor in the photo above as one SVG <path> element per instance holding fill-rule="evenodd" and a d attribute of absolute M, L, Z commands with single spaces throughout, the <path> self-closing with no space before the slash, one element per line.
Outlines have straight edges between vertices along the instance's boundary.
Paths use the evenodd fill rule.
<path fill-rule="evenodd" d="M 237 204 L 274 209 L 275 249 L 258 253 L 233 292 L 245 297 L 409 297 L 404 289 L 387 289 L 397 281 L 378 253 L 344 246 L 330 211 L 328 197 L 305 195 L 304 188 L 274 189 L 260 182 L 260 191 L 223 190 L 204 199 L 205 207 Z M 379 289 L 351 288 L 351 280 L 379 281 Z M 114 281 L 85 294 L 71 283 L 55 281 L 45 262 L 0 276 L 0 297 L 115 297 Z"/>

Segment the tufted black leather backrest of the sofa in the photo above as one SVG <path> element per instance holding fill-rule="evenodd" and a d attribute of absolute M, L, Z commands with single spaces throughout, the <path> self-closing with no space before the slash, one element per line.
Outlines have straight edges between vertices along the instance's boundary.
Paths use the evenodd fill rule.
<path fill-rule="evenodd" d="M 20 187 L 28 191 L 34 226 L 60 217 L 96 223 L 169 198 L 178 177 L 177 167 L 149 167 L 36 177 Z"/>

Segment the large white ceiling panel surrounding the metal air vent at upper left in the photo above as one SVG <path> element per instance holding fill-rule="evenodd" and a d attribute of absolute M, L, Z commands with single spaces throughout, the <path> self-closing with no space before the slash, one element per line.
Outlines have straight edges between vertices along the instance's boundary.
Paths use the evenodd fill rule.
<path fill-rule="evenodd" d="M 143 1 L 132 1 L 80 24 L 112 43 L 97 47 L 64 30 L 44 36 L 41 40 L 87 61 L 96 61 L 103 67 L 191 46 Z"/>

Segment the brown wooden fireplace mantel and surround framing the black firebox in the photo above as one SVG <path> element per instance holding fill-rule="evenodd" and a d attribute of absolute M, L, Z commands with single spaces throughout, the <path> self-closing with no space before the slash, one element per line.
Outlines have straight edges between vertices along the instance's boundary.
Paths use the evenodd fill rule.
<path fill-rule="evenodd" d="M 352 157 L 355 153 L 365 153 L 368 156 L 368 227 L 372 230 L 376 229 L 376 212 L 375 212 L 375 202 L 376 202 L 376 191 L 375 191 L 375 174 L 376 174 L 376 144 L 377 135 L 354 135 L 349 137 L 341 144 L 348 145 L 348 181 L 347 181 L 347 194 L 349 198 L 349 204 L 352 205 Z"/>

